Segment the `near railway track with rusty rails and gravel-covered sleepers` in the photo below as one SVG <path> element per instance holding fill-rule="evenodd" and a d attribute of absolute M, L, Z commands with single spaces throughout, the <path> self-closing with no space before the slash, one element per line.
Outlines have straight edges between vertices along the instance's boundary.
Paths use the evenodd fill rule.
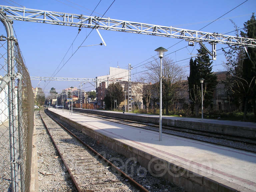
<path fill-rule="evenodd" d="M 78 192 L 148 192 L 45 111 L 39 114 Z"/>

